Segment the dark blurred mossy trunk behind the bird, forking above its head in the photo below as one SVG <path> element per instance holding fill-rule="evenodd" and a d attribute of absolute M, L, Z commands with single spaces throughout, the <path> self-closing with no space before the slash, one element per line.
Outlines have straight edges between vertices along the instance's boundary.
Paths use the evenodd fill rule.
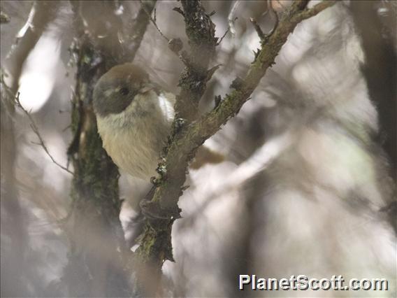
<path fill-rule="evenodd" d="M 151 12 L 154 4 L 146 1 L 145 9 Z M 125 32 L 122 18 L 114 13 L 115 1 L 71 1 L 71 5 L 78 31 L 71 47 L 77 73 L 71 113 L 73 141 L 68 148 L 74 167 L 73 236 L 63 280 L 73 297 L 126 297 L 131 295 L 126 278 L 131 252 L 119 219 L 120 175 L 102 147 L 92 94 L 106 71 L 132 61 L 149 21 L 141 9 Z"/>

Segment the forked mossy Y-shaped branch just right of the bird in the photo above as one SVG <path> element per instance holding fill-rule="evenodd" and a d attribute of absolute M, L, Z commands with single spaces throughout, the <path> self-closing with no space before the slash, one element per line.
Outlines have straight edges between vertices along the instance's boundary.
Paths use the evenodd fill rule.
<path fill-rule="evenodd" d="M 208 57 L 212 57 L 216 45 L 216 38 L 213 35 L 215 28 L 199 2 L 182 1 L 187 36 L 192 47 L 191 58 L 194 62 L 180 75 L 182 90 L 175 104 L 173 135 L 165 150 L 163 162 L 159 164 L 161 177 L 156 180 L 153 198 L 143 206 L 157 215 L 145 220 L 145 231 L 140 236 L 138 248 L 138 258 L 140 262 L 152 268 L 151 274 L 161 274 L 162 264 L 166 260 L 173 261 L 172 225 L 175 219 L 180 218 L 178 198 L 182 194 L 187 166 L 197 148 L 236 115 L 243 104 L 250 99 L 259 80 L 274 64 L 275 57 L 296 25 L 334 3 L 335 1 L 324 1 L 314 8 L 307 9 L 308 1 L 294 1 L 282 15 L 273 34 L 262 42 L 257 57 L 236 90 L 227 94 L 213 111 L 196 119 L 196 107 L 207 82 Z M 198 58 L 201 60 L 197 60 Z M 147 274 L 147 271 L 145 273 Z M 156 283 L 156 279 L 158 277 L 151 275 L 152 282 Z M 150 292 L 152 295 L 154 293 Z"/>

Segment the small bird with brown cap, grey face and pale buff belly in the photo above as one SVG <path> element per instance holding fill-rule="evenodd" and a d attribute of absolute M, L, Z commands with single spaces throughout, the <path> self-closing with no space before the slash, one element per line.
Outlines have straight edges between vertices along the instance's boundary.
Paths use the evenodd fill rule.
<path fill-rule="evenodd" d="M 156 175 L 174 104 L 175 94 L 135 64 L 114 66 L 101 76 L 93 94 L 96 123 L 103 148 L 122 171 L 143 180 Z"/>

